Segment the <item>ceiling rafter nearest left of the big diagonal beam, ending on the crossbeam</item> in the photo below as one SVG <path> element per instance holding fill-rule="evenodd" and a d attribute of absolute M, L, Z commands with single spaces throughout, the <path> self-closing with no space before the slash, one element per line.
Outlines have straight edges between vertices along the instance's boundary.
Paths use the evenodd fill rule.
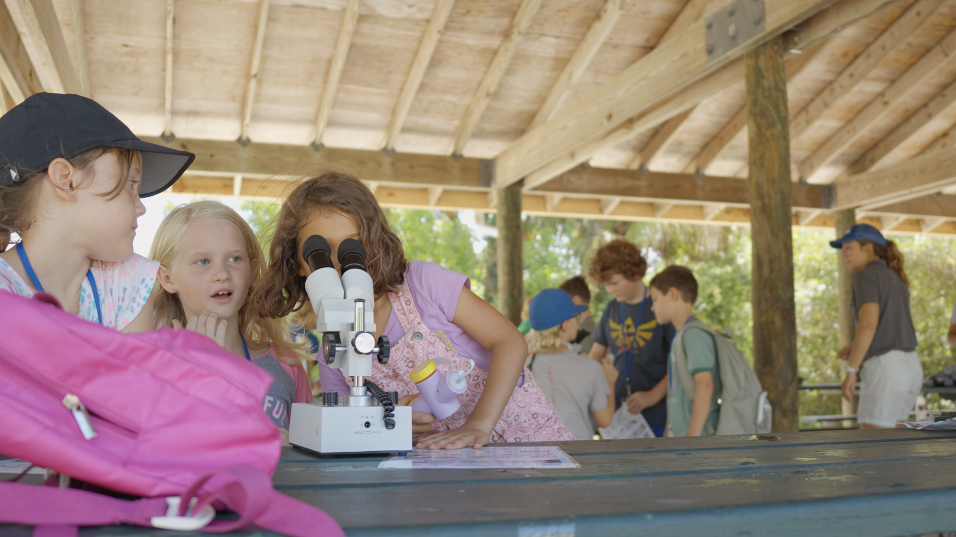
<path fill-rule="evenodd" d="M 508 32 L 505 33 L 505 39 L 501 42 L 497 52 L 495 52 L 494 57 L 491 59 L 488 70 L 482 77 L 481 82 L 478 84 L 478 89 L 475 90 L 474 95 L 471 96 L 471 102 L 468 103 L 468 107 L 465 109 L 465 117 L 458 123 L 458 128 L 455 130 L 450 151 L 455 157 L 462 156 L 462 152 L 465 150 L 465 144 L 471 139 L 475 127 L 478 126 L 479 119 L 481 119 L 482 114 L 485 113 L 485 109 L 488 108 L 491 97 L 494 95 L 495 90 L 498 89 L 498 83 L 501 82 L 505 71 L 508 70 L 508 66 L 511 64 L 511 58 L 514 57 L 514 53 L 517 52 L 518 44 L 521 42 L 521 38 L 524 37 L 528 27 L 531 26 L 534 14 L 539 7 L 541 7 L 541 0 L 521 0 L 518 11 L 514 13 L 514 18 L 511 19 L 511 27 L 508 29 Z"/>

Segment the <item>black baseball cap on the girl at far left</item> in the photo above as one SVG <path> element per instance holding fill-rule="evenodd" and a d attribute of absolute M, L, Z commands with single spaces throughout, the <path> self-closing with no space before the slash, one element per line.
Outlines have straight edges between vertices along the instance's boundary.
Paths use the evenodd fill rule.
<path fill-rule="evenodd" d="M 176 183 L 196 156 L 140 140 L 95 100 L 70 94 L 33 94 L 0 118 L 0 187 L 72 159 L 113 147 L 142 152 L 140 197 Z"/>

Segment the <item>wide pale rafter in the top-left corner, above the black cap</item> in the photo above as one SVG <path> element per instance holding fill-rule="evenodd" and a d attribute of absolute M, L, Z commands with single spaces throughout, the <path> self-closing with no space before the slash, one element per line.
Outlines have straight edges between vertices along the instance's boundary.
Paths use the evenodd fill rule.
<path fill-rule="evenodd" d="M 57 94 L 82 92 L 52 0 L 6 0 L 6 4 L 43 88 Z"/>

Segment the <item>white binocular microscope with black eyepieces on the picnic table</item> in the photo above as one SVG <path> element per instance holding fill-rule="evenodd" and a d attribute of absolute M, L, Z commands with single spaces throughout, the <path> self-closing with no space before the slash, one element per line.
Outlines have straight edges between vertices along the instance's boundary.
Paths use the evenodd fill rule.
<path fill-rule="evenodd" d="M 395 392 L 383 392 L 365 378 L 372 375 L 372 357 L 384 364 L 389 354 L 388 337 L 376 341 L 373 334 L 375 298 L 365 248 L 355 239 L 338 245 L 340 279 L 332 248 L 321 235 L 306 240 L 302 257 L 312 270 L 305 290 L 318 315 L 316 331 L 323 335 L 318 357 L 355 382 L 342 401 L 337 392 L 327 392 L 320 401 L 293 403 L 289 443 L 322 455 L 411 451 L 411 407 L 396 406 Z"/>

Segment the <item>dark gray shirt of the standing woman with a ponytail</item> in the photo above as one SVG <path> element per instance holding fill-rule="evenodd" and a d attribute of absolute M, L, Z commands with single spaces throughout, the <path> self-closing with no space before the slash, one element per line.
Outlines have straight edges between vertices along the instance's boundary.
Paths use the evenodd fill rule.
<path fill-rule="evenodd" d="M 882 259 L 871 261 L 853 277 L 853 318 L 859 325 L 859 307 L 874 302 L 880 306 L 880 324 L 863 360 L 890 351 L 916 350 L 916 331 L 909 312 L 909 289 L 900 275 Z"/>

